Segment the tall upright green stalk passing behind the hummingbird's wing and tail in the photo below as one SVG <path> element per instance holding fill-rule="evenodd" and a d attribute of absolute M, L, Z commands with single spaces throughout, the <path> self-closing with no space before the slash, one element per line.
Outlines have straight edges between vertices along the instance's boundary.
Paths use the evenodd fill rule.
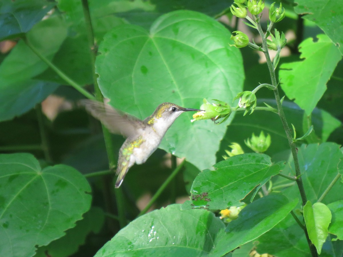
<path fill-rule="evenodd" d="M 97 47 L 95 46 L 95 42 L 94 42 L 94 33 L 93 33 L 91 14 L 89 11 L 88 1 L 82 0 L 81 2 L 82 2 L 82 9 L 83 9 L 83 14 L 84 14 L 84 18 L 85 18 L 85 23 L 86 23 L 88 45 L 90 48 L 90 57 L 91 57 L 91 61 L 92 61 L 92 75 L 93 75 L 95 98 L 96 98 L 96 100 L 103 102 L 104 97 L 100 91 L 98 81 L 97 81 L 97 74 L 95 72 L 95 58 L 96 58 Z M 106 127 L 104 125 L 102 125 L 102 129 L 103 129 L 103 134 L 104 134 L 106 152 L 107 152 L 107 156 L 108 156 L 108 160 L 109 160 L 109 167 L 110 167 L 110 170 L 113 170 L 114 167 L 116 166 L 116 160 L 114 159 L 114 156 L 115 156 L 114 155 L 114 146 L 113 146 L 113 142 L 111 140 L 111 134 L 109 133 L 109 131 L 106 129 Z M 103 182 L 104 183 L 111 183 L 112 187 L 113 187 L 112 180 L 104 179 Z M 110 195 L 111 192 L 107 191 L 107 192 L 104 192 L 104 194 Z M 126 223 L 126 218 L 125 218 L 125 208 L 124 208 L 123 193 L 122 193 L 121 188 L 116 189 L 115 197 L 116 197 L 116 202 L 117 202 L 119 225 L 121 228 L 123 228 L 123 227 L 125 227 L 125 225 L 127 223 Z M 112 202 L 111 199 L 109 198 L 108 201 L 110 201 L 108 203 L 108 205 L 110 205 Z"/>

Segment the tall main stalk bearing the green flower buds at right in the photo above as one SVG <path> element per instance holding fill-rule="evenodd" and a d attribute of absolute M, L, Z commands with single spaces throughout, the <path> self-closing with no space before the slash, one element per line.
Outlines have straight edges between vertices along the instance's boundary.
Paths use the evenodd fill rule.
<path fill-rule="evenodd" d="M 306 193 L 305 193 L 303 180 L 301 179 L 301 172 L 300 172 L 299 160 L 298 160 L 298 155 L 297 155 L 297 149 L 296 149 L 295 143 L 293 142 L 292 133 L 291 133 L 291 130 L 289 129 L 285 114 L 283 112 L 279 90 L 277 89 L 275 69 L 273 67 L 273 62 L 271 61 L 270 56 L 269 56 L 268 47 L 267 47 L 267 38 L 265 37 L 265 34 L 263 33 L 260 22 L 257 22 L 257 30 L 258 30 L 261 38 L 262 38 L 262 47 L 263 47 L 263 49 L 265 49 L 264 56 L 265 56 L 265 59 L 267 60 L 267 65 L 268 65 L 272 85 L 275 87 L 275 89 L 273 89 L 273 91 L 274 91 L 277 109 L 279 110 L 279 117 L 281 119 L 282 125 L 284 127 L 285 132 L 286 132 L 289 147 L 291 148 L 294 166 L 295 166 L 295 174 L 297 177 L 296 183 L 297 183 L 297 186 L 298 186 L 298 189 L 300 192 L 302 204 L 303 204 L 303 206 L 305 206 L 305 204 L 307 203 L 307 197 L 306 197 Z M 314 246 L 314 244 L 312 244 L 312 242 L 308 236 L 307 229 L 304 229 L 304 233 L 305 233 L 305 236 L 307 239 L 307 244 L 310 248 L 311 255 L 313 257 L 317 257 L 318 256 L 317 249 Z"/>

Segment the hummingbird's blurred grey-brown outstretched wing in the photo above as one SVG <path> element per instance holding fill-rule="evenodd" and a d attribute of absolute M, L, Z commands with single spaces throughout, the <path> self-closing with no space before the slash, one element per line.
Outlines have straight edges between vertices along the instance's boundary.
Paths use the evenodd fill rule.
<path fill-rule="evenodd" d="M 122 134 L 129 137 L 137 135 L 137 130 L 144 126 L 143 121 L 130 114 L 114 109 L 107 103 L 90 99 L 80 100 L 86 110 L 96 119 L 100 120 L 107 129 L 114 134 Z"/>

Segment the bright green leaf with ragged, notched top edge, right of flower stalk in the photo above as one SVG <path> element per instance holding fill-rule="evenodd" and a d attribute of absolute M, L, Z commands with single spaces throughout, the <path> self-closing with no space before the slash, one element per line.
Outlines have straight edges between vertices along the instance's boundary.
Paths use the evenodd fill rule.
<path fill-rule="evenodd" d="M 279 76 L 281 87 L 289 99 L 294 101 L 309 115 L 326 90 L 337 63 L 342 56 L 330 38 L 318 35 L 318 41 L 312 38 L 300 45 L 300 58 L 303 61 L 283 63 Z"/>

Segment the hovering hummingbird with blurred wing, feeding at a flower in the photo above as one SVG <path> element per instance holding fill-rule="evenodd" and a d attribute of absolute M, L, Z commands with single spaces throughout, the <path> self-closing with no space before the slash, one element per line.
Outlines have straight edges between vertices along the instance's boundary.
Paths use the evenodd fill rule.
<path fill-rule="evenodd" d="M 116 172 L 118 178 L 115 188 L 120 187 L 134 163 L 142 164 L 152 155 L 171 124 L 182 112 L 202 111 L 165 102 L 161 103 L 149 117 L 140 120 L 106 103 L 83 99 L 81 105 L 93 117 L 100 120 L 111 133 L 122 134 L 127 138 L 119 150 Z"/>

